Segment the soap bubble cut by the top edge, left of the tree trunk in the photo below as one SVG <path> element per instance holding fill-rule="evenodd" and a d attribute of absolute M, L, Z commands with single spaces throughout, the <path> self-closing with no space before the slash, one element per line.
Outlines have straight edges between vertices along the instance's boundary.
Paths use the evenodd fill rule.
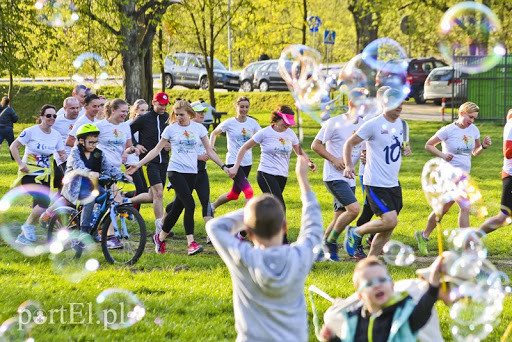
<path fill-rule="evenodd" d="M 35 8 L 39 21 L 52 27 L 69 27 L 80 19 L 70 0 L 37 0 Z"/>

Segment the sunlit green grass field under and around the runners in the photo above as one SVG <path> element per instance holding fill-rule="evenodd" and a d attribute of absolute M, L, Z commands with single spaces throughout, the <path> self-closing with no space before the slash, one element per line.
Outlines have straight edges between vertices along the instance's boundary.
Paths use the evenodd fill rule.
<path fill-rule="evenodd" d="M 261 126 L 267 125 L 268 114 L 251 114 L 259 120 Z M 430 212 L 421 190 L 420 178 L 423 165 L 431 156 L 427 154 L 423 146 L 427 139 L 442 126 L 442 123 L 410 122 L 409 124 L 413 155 L 403 159 L 400 181 L 403 188 L 404 208 L 400 213 L 393 239 L 409 244 L 417 250 L 414 231 L 424 228 Z M 503 127 L 491 123 L 479 123 L 478 127 L 482 136 L 491 136 L 493 146 L 473 159 L 472 176 L 482 191 L 490 214 L 494 215 L 499 210 L 501 197 L 499 172 L 503 158 L 501 152 Z M 22 125 L 17 125 L 15 127 L 16 134 L 22 128 Z M 319 165 L 319 172 L 311 174 L 310 179 L 321 202 L 325 227 L 332 218 L 332 198 L 322 182 L 322 160 L 314 155 L 309 148 L 318 129 L 318 124 L 309 119 L 305 120 L 303 146 Z M 224 159 L 225 137 L 220 136 L 217 139 L 216 148 L 221 158 Z M 259 161 L 258 147 L 255 148 L 254 156 L 254 165 L 257 165 Z M 292 156 L 291 163 L 295 163 L 294 156 Z M 0 164 L 2 165 L 0 194 L 4 194 L 9 190 L 9 185 L 14 180 L 17 170 L 15 163 L 9 158 L 5 144 L 0 150 Z M 212 199 L 231 187 L 230 180 L 213 163 L 209 163 L 209 175 Z M 255 193 L 259 194 L 260 190 L 256 183 L 256 166 L 253 168 L 249 180 Z M 362 203 L 359 186 L 357 191 L 357 196 Z M 287 203 L 289 237 L 294 241 L 299 232 L 301 203 L 293 173 L 290 173 L 284 195 Z M 166 191 L 164 204 L 169 203 L 172 198 L 173 192 Z M 217 210 L 216 215 L 240 208 L 242 203 L 242 201 L 238 201 L 226 204 Z M 200 208 L 198 202 L 196 208 Z M 146 219 L 148 229 L 153 230 L 154 217 L 151 207 L 145 205 L 141 213 Z M 445 229 L 456 227 L 457 214 L 458 210 L 454 207 L 445 216 L 443 220 Z M 234 340 L 236 335 L 231 279 L 228 270 L 216 255 L 213 247 L 205 243 L 206 234 L 200 210 L 196 210 L 195 218 L 197 241 L 205 246 L 205 253 L 193 257 L 186 255 L 184 229 L 180 221 L 174 228 L 176 237 L 168 243 L 169 251 L 166 255 L 155 254 L 152 243 L 148 242 L 146 252 L 139 262 L 130 268 L 123 268 L 108 265 L 101 252 L 98 252 L 100 269 L 78 284 L 68 283 L 56 275 L 47 256 L 26 257 L 0 242 L 0 286 L 2 290 L 0 322 L 15 316 L 18 305 L 30 299 L 41 303 L 46 312 L 62 307 L 67 309 L 64 320 L 56 315 L 53 324 L 47 321 L 33 329 L 32 335 L 38 341 L 154 341 L 164 338 L 177 341 Z M 483 219 L 471 217 L 473 226 L 478 226 L 482 222 Z M 341 239 L 342 237 L 340 237 Z M 503 228 L 489 236 L 486 241 L 489 258 L 509 275 L 512 275 L 509 262 L 511 242 L 509 228 Z M 390 272 L 395 280 L 414 277 L 415 269 L 427 266 L 436 254 L 437 247 L 435 243 L 431 242 L 429 257 L 420 258 L 410 267 L 390 267 Z M 315 284 L 334 297 L 350 295 L 354 291 L 351 277 L 355 262 L 349 259 L 343 251 L 340 251 L 340 256 L 343 261 L 339 263 L 315 264 L 306 280 L 306 288 Z M 89 303 L 93 303 L 102 290 L 110 287 L 133 291 L 144 302 L 147 311 L 141 322 L 129 329 L 113 331 L 106 330 L 102 324 L 98 324 L 94 314 L 90 319 Z M 73 317 L 70 313 L 70 303 L 78 303 L 74 306 Z M 512 320 L 512 309 L 508 307 L 509 304 L 512 302 L 507 299 L 504 312 L 496 323 L 494 332 L 488 338 L 489 341 L 499 340 L 508 322 Z M 317 300 L 317 305 L 321 312 L 328 307 L 328 303 L 322 299 Z M 447 340 L 451 340 L 448 310 L 441 303 L 436 305 L 443 334 Z M 310 311 L 309 302 L 308 310 Z M 63 311 L 61 310 L 61 312 Z M 155 320 L 161 324 L 155 323 Z M 80 321 L 84 321 L 84 323 L 77 323 Z M 315 340 L 311 319 L 310 333 L 311 340 Z"/>

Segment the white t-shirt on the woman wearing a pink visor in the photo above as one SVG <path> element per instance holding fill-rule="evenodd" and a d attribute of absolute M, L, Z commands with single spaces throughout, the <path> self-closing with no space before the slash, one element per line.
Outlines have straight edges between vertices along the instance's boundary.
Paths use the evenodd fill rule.
<path fill-rule="evenodd" d="M 247 118 L 245 122 L 239 122 L 236 118 L 230 118 L 221 122 L 219 128 L 222 132 L 226 132 L 228 141 L 228 153 L 226 154 L 226 164 L 235 164 L 236 155 L 252 136 L 258 132 L 261 127 L 253 118 Z M 252 150 L 245 153 L 241 166 L 252 165 Z"/>

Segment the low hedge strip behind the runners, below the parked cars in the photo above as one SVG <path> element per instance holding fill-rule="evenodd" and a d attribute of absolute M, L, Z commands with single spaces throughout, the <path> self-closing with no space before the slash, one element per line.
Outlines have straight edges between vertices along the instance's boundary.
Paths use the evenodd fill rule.
<path fill-rule="evenodd" d="M 11 106 L 14 108 L 21 123 L 35 122 L 39 109 L 44 104 L 52 104 L 57 109 L 62 107 L 62 102 L 68 96 L 71 96 L 71 85 L 52 84 L 52 85 L 21 85 L 14 86 L 13 98 Z M 154 89 L 158 92 L 158 89 Z M 123 89 L 120 86 L 102 87 L 98 94 L 105 95 L 107 98 L 121 97 Z M 196 101 L 203 98 L 209 102 L 208 91 L 205 90 L 167 90 L 171 99 L 182 98 L 190 101 Z M 7 84 L 0 84 L 0 95 L 7 94 Z M 245 95 L 249 97 L 251 102 L 251 110 L 257 112 L 270 112 L 278 104 L 294 104 L 294 100 L 290 92 L 216 92 L 215 99 L 217 102 L 216 109 L 220 112 L 228 112 L 228 115 L 234 115 L 234 107 L 236 99 Z"/>

